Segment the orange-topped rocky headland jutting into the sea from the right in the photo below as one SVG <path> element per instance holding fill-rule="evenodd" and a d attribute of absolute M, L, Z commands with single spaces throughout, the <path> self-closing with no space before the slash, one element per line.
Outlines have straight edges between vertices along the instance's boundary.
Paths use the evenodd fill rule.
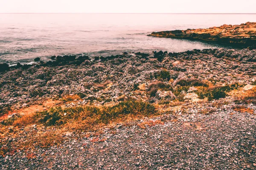
<path fill-rule="evenodd" d="M 152 32 L 148 36 L 204 40 L 254 47 L 256 44 L 256 23 L 247 22 L 241 25 L 223 25 L 207 29 L 160 31 Z"/>

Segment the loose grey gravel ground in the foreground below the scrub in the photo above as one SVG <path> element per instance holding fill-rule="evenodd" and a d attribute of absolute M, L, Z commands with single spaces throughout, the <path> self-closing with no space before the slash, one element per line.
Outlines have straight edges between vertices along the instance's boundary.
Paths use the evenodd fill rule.
<path fill-rule="evenodd" d="M 248 105 L 249 106 L 249 105 Z M 105 128 L 99 139 L 75 138 L 59 147 L 21 151 L 0 158 L 7 169 L 256 169 L 256 116 L 223 105 L 212 114 L 177 112 L 158 119 L 163 125 Z M 256 105 L 250 104 L 256 109 Z M 156 118 L 157 119 L 157 118 Z M 78 139 L 78 140 L 77 140 Z M 95 137 L 94 137 L 95 139 Z M 28 159 L 26 155 L 33 155 Z"/>

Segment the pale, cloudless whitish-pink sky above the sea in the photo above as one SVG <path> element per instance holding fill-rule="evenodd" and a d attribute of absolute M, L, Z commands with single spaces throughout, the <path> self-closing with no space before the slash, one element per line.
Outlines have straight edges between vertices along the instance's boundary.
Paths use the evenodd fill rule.
<path fill-rule="evenodd" d="M 0 0 L 0 13 L 256 13 L 256 0 Z"/>

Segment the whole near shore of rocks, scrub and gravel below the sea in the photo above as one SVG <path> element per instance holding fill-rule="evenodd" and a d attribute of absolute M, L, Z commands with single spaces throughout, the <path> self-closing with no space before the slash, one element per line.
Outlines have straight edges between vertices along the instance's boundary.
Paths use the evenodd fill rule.
<path fill-rule="evenodd" d="M 36 60 L 0 72 L 3 170 L 256 169 L 256 50 Z M 88 107 L 144 115 L 89 130 L 81 130 L 86 116 L 64 122 Z"/>

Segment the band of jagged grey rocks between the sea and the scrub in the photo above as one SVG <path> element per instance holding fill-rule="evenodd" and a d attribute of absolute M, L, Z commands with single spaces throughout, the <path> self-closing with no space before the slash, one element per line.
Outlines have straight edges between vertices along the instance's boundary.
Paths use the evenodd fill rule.
<path fill-rule="evenodd" d="M 116 102 L 119 96 L 131 93 L 137 84 L 148 85 L 156 80 L 155 75 L 165 69 L 176 81 L 192 74 L 189 77 L 200 80 L 252 83 L 256 75 L 255 62 L 255 50 L 223 48 L 180 53 L 124 53 L 94 59 L 66 55 L 53 62 L 8 67 L 0 74 L 0 108 L 21 108 L 30 101 L 77 93 L 84 93 L 87 102 L 92 95 L 101 98 L 102 103 Z M 113 85 L 111 91 L 104 94 L 94 84 L 105 82 Z"/>

